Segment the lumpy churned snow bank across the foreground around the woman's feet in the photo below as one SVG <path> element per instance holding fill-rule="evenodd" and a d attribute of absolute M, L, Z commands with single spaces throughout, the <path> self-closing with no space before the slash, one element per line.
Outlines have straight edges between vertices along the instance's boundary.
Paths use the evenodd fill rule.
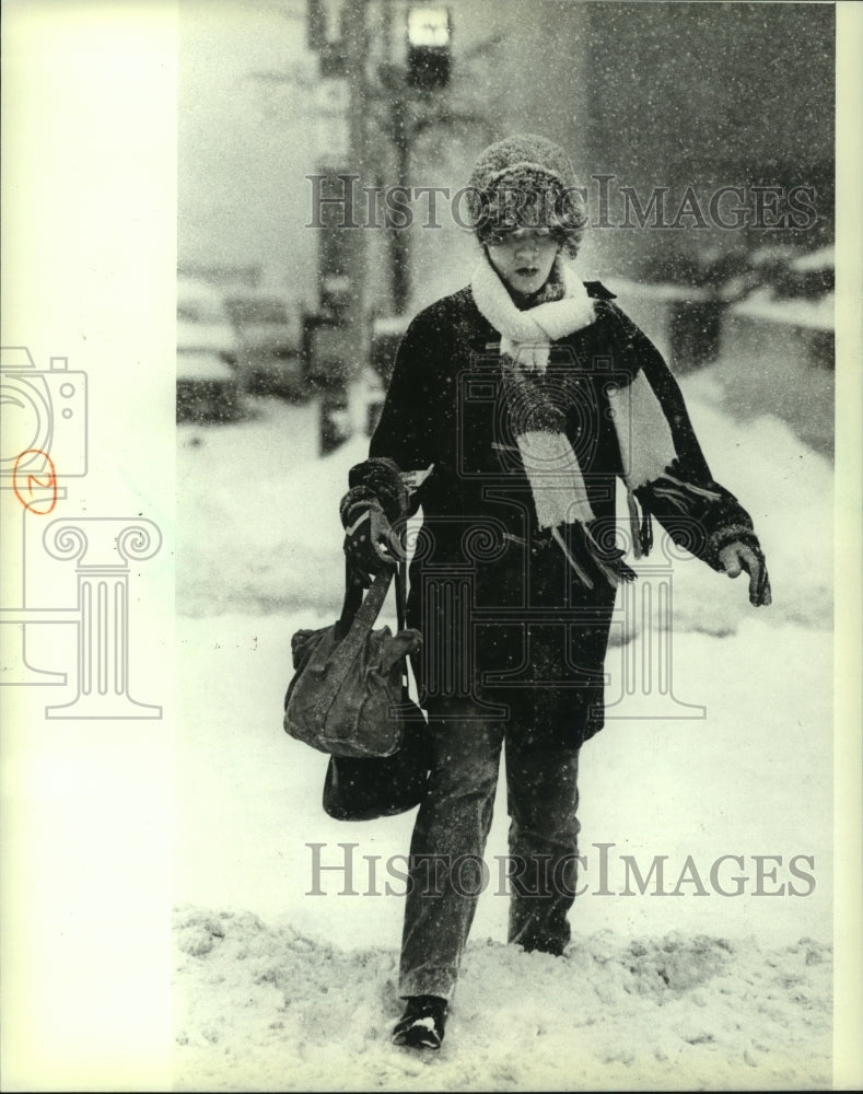
<path fill-rule="evenodd" d="M 250 913 L 174 921 L 174 1086 L 187 1091 L 818 1090 L 831 953 L 708 935 L 474 943 L 440 1054 L 394 1048 L 393 948 L 338 950 Z"/>

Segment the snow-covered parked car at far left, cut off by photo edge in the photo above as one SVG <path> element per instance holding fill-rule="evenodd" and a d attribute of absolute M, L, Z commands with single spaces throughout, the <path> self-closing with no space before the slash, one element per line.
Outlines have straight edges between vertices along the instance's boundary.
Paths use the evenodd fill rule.
<path fill-rule="evenodd" d="M 243 417 L 240 347 L 219 291 L 206 281 L 177 281 L 177 420 Z"/>

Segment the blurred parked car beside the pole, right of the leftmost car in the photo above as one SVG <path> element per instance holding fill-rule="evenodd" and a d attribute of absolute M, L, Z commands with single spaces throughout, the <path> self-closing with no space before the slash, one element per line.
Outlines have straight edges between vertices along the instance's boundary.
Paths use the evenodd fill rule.
<path fill-rule="evenodd" d="M 229 293 L 225 309 L 240 344 L 247 389 L 285 398 L 306 395 L 300 323 L 287 301 L 276 293 L 245 289 Z"/>

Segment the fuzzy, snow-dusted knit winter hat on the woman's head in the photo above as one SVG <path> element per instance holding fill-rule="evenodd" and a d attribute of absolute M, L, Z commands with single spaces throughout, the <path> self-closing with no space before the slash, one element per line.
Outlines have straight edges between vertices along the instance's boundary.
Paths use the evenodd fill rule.
<path fill-rule="evenodd" d="M 480 153 L 467 207 L 480 243 L 516 228 L 549 228 L 574 257 L 587 223 L 584 195 L 563 149 L 537 133 L 515 133 Z"/>

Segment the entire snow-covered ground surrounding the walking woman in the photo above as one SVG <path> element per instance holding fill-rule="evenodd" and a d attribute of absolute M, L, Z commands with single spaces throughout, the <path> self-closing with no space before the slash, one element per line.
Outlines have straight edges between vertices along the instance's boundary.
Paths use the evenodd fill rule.
<path fill-rule="evenodd" d="M 732 421 L 709 373 L 685 392 L 714 476 L 755 517 L 773 605 L 751 608 L 745 579 L 676 563 L 676 702 L 661 709 L 655 693 L 623 695 L 625 652 L 655 641 L 625 620 L 631 641 L 608 659 L 620 701 L 582 754 L 570 952 L 503 945 L 506 898 L 490 884 L 431 1061 L 388 1041 L 403 899 L 381 891 L 412 817 L 327 818 L 326 757 L 281 729 L 291 635 L 338 610 L 338 499 L 365 439 L 317 458 L 314 406 L 269 401 L 244 423 L 179 429 L 179 1087 L 829 1083 L 832 472 L 778 419 Z M 505 840 L 499 796 L 490 863 Z M 352 885 L 334 870 L 310 895 L 315 854 L 347 854 Z M 675 895 L 628 885 L 628 861 L 646 874 L 661 857 Z"/>

